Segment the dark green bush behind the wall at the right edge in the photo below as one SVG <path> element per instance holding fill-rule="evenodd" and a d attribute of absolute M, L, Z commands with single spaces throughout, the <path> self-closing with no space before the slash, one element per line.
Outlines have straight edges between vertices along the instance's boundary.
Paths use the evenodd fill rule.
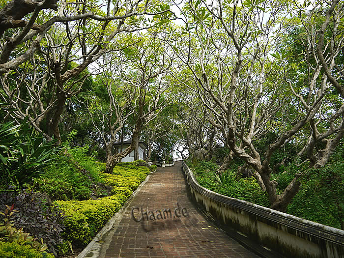
<path fill-rule="evenodd" d="M 344 148 L 338 148 L 329 163 L 311 169 L 287 213 L 338 229 L 344 229 Z"/>

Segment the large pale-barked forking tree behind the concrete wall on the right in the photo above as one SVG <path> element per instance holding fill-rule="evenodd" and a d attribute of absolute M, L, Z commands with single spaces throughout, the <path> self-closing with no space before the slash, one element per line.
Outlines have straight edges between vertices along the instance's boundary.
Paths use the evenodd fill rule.
<path fill-rule="evenodd" d="M 208 121 L 231 150 L 228 159 L 235 155 L 252 167 L 271 208 L 284 211 L 300 188 L 303 170 L 299 167 L 277 193 L 270 177 L 274 152 L 298 142 L 307 152 L 300 153 L 299 163 L 319 168 L 344 135 L 343 3 L 197 0 L 180 11 L 186 25 L 175 33 L 184 40 L 166 38 L 187 71 L 176 80 L 198 95 Z M 307 41 L 299 63 L 282 44 L 293 26 Z M 300 66 L 307 72 L 298 75 L 303 84 L 296 87 L 301 80 L 293 76 Z M 329 92 L 335 92 L 336 105 L 325 101 Z M 260 152 L 257 143 L 269 132 L 277 138 Z"/>

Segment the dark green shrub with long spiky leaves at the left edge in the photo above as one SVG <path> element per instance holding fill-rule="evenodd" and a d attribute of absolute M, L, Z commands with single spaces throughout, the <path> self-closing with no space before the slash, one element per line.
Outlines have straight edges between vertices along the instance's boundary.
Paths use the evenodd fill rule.
<path fill-rule="evenodd" d="M 44 167 L 60 148 L 56 139 L 48 142 L 43 133 L 31 129 L 26 120 L 20 126 L 13 122 L 0 124 L 0 185 L 21 187 L 44 172 Z"/>

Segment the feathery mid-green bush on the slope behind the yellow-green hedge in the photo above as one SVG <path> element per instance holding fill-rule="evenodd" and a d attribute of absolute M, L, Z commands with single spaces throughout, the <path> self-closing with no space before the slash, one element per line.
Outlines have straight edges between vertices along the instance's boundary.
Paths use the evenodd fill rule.
<path fill-rule="evenodd" d="M 52 200 L 87 200 L 92 181 L 86 171 L 78 168 L 71 157 L 57 155 L 45 173 L 33 179 L 34 189 L 47 193 Z"/>

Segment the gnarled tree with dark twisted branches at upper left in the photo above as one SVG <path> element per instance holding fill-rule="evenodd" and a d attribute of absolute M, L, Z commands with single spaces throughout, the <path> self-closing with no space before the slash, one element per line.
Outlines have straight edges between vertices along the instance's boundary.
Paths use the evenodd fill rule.
<path fill-rule="evenodd" d="M 118 35 L 171 17 L 169 6 L 156 0 L 13 0 L 1 7 L 1 97 L 15 109 L 8 117 L 28 117 L 48 139 L 60 139 L 66 100 L 102 71 L 87 67 L 127 47 L 118 46 Z"/>

